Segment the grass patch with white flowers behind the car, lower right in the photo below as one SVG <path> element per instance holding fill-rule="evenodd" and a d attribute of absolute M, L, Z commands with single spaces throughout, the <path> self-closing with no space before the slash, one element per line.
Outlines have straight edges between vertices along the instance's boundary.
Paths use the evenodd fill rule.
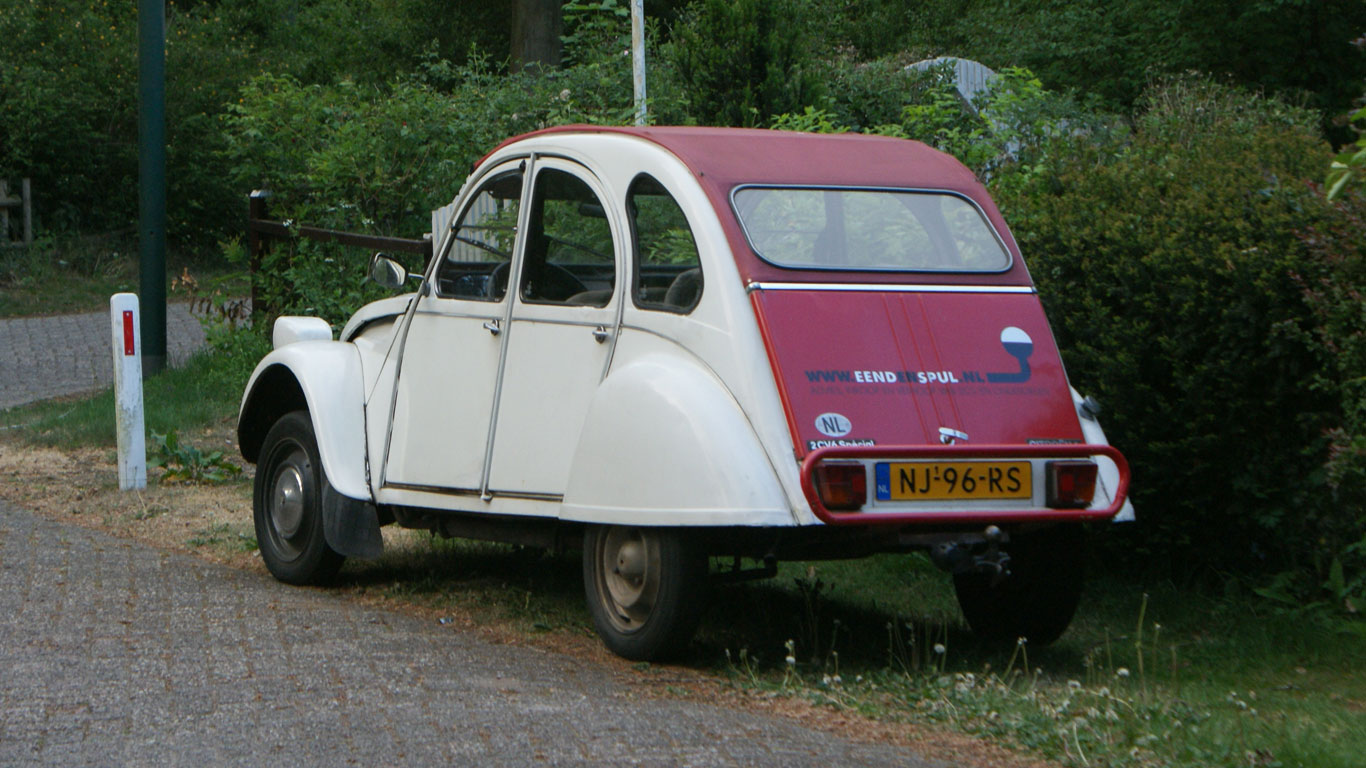
<path fill-rule="evenodd" d="M 974 641 L 918 556 L 821 563 L 817 645 L 794 670 L 783 630 L 806 631 L 810 573 L 750 588 L 723 611 L 750 633 L 739 685 L 787 687 L 878 717 L 928 717 L 1072 765 L 1359 765 L 1366 749 L 1361 625 L 1306 622 L 1255 597 L 1206 596 L 1101 574 L 1050 648 Z M 768 605 L 783 626 L 736 626 Z M 882 626 L 877 626 L 881 620 Z M 755 653 L 754 648 L 766 650 Z M 943 649 L 943 653 L 937 653 Z M 758 675 L 751 674 L 757 668 Z M 837 678 L 837 683 L 832 683 Z"/>

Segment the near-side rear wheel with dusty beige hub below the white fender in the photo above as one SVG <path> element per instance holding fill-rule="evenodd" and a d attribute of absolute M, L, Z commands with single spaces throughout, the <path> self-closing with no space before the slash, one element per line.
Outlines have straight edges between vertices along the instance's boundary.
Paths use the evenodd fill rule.
<path fill-rule="evenodd" d="M 612 653 L 653 661 L 682 652 L 706 607 L 706 553 L 678 530 L 589 526 L 583 590 Z"/>

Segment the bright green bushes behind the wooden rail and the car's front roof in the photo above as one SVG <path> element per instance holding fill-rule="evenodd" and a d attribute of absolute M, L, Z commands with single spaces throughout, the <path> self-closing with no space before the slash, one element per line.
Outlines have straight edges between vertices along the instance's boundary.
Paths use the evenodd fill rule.
<path fill-rule="evenodd" d="M 485 57 L 456 66 L 433 53 L 418 74 L 384 85 L 258 77 L 228 119 L 234 183 L 269 189 L 275 219 L 418 238 L 430 230 L 430 212 L 451 202 L 473 163 L 501 139 L 631 120 L 631 83 L 613 71 L 619 63 L 579 56 L 564 70 L 508 75 Z M 254 276 L 258 295 L 272 310 L 340 324 L 378 295 L 362 288 L 365 256 L 277 242 Z"/>

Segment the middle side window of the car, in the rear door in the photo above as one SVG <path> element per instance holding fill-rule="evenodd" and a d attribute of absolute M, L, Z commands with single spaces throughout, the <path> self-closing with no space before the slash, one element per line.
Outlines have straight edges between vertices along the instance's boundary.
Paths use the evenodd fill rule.
<path fill-rule="evenodd" d="M 616 249 L 602 201 L 557 168 L 535 175 L 522 264 L 522 301 L 607 306 L 616 286 Z"/>

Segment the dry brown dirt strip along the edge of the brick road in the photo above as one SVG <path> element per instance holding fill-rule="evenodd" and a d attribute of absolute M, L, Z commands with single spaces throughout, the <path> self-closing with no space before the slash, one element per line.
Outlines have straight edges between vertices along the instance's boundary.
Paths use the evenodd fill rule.
<path fill-rule="evenodd" d="M 193 443 L 204 450 L 221 448 L 228 456 L 236 458 L 229 425 L 198 435 L 183 435 L 182 443 Z M 14 439 L 0 440 L 0 477 L 8 478 L 0 484 L 0 497 L 61 522 L 94 527 L 235 568 L 265 573 L 253 545 L 251 466 L 245 466 L 242 480 L 225 485 L 161 484 L 157 481 L 160 470 L 153 469 L 149 471 L 150 482 L 146 489 L 120 492 L 115 465 L 112 448 L 61 451 L 25 445 Z M 418 545 L 417 540 L 418 536 L 413 532 L 385 529 L 385 543 L 389 547 Z M 376 594 L 374 590 L 355 593 L 354 597 L 387 609 L 454 622 L 493 642 L 535 645 L 612 666 L 652 696 L 697 697 L 746 711 L 769 712 L 846 738 L 912 746 L 926 756 L 956 765 L 1053 765 L 934 726 L 881 722 L 803 698 L 735 689 L 719 685 L 717 678 L 687 667 L 634 666 L 608 653 L 596 638 L 568 631 L 529 635 L 478 607 L 434 608 Z"/>

